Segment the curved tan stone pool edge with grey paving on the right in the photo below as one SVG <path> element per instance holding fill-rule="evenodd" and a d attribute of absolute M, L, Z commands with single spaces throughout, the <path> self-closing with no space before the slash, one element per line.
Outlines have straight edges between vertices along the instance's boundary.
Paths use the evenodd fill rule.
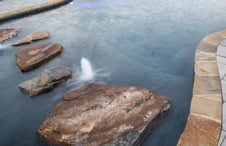
<path fill-rule="evenodd" d="M 177 146 L 221 146 L 226 139 L 225 38 L 226 30 L 209 34 L 196 48 L 190 113 Z"/>

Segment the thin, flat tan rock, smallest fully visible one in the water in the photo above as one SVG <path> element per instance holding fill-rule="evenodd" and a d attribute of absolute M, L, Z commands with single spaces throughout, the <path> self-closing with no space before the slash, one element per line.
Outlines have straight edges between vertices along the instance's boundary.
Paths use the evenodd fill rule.
<path fill-rule="evenodd" d="M 23 45 L 23 44 L 30 44 L 32 41 L 42 40 L 49 38 L 48 32 L 33 32 L 27 36 L 25 36 L 23 39 L 15 42 L 13 46 Z"/>

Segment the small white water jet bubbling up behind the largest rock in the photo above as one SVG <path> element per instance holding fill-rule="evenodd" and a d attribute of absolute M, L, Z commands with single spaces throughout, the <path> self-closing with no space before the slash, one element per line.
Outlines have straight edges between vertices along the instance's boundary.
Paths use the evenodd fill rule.
<path fill-rule="evenodd" d="M 92 80 L 95 74 L 93 72 L 90 61 L 85 57 L 82 57 L 80 65 L 81 65 L 81 80 L 83 81 Z"/>

